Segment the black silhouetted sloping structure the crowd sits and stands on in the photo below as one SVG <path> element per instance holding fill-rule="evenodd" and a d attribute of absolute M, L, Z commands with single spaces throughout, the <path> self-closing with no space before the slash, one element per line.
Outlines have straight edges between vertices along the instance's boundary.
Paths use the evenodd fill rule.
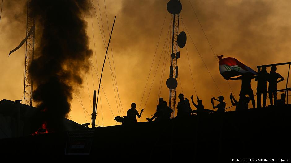
<path fill-rule="evenodd" d="M 291 105 L 0 139 L 3 155 L 89 154 L 126 161 L 290 159 Z"/>

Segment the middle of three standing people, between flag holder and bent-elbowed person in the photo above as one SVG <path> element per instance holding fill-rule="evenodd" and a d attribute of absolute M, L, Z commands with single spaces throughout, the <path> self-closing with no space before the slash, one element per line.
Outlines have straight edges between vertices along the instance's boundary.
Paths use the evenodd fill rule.
<path fill-rule="evenodd" d="M 257 73 L 255 81 L 258 81 L 257 85 L 257 108 L 261 107 L 261 97 L 263 94 L 263 107 L 266 107 L 267 99 L 267 81 L 269 80 L 269 73 L 266 70 L 266 66 L 262 66 L 262 70 Z"/>

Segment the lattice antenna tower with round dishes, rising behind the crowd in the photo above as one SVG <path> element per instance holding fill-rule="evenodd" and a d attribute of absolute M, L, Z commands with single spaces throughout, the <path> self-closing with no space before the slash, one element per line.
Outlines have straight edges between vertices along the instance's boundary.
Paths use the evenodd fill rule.
<path fill-rule="evenodd" d="M 178 51 L 178 46 L 183 48 L 186 44 L 186 34 L 181 32 L 179 35 L 179 13 L 182 10 L 182 5 L 178 0 L 170 0 L 167 3 L 167 10 L 169 13 L 173 14 L 173 32 L 172 32 L 172 53 L 171 53 L 171 66 L 170 66 L 170 77 L 167 79 L 167 87 L 170 89 L 169 95 L 169 105 L 173 109 L 171 118 L 175 115 L 175 104 L 176 104 L 176 88 L 178 82 L 176 78 L 178 77 L 178 66 L 177 59 L 180 58 L 180 51 Z"/>

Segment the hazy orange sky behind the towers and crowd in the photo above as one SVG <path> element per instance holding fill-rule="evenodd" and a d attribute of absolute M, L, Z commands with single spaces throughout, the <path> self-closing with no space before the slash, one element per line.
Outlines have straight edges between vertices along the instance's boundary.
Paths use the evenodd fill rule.
<path fill-rule="evenodd" d="M 0 21 L 1 100 L 23 99 L 25 46 L 14 52 L 9 58 L 8 53 L 25 37 L 26 10 L 24 9 L 26 2 L 26 0 L 4 0 L 3 2 Z M 98 7 L 97 0 L 93 0 L 93 2 L 96 14 L 94 8 L 92 8 L 92 19 L 90 14 L 85 17 L 88 25 L 87 34 L 90 38 L 89 47 L 93 50 L 93 56 L 91 58 L 93 62 L 92 71 L 90 69 L 86 73 L 83 72 L 83 84 L 75 86 L 69 119 L 80 124 L 91 122 L 89 115 L 92 113 L 93 90 L 98 88 L 98 77 L 95 70 L 96 72 L 98 71 L 98 75 L 100 76 L 106 52 L 104 44 L 107 46 L 109 39 L 108 28 L 111 30 L 114 16 L 116 16 L 111 39 L 112 52 L 110 48 L 108 50 L 108 57 L 112 71 L 116 74 L 118 94 L 121 103 L 119 105 L 116 85 L 114 84 L 113 86 L 115 82 L 112 82 L 109 62 L 106 59 L 102 77 L 102 87 L 105 93 L 101 89 L 96 124 L 100 126 L 116 125 L 115 120 L 113 120 L 114 116 L 124 116 L 132 102 L 137 104 L 137 109 L 140 107 L 145 108 L 144 115 L 141 119 L 141 121 L 145 121 L 146 117 L 154 114 L 158 102 L 157 99 L 163 97 L 164 100 L 168 101 L 169 96 L 169 90 L 166 87 L 165 81 L 169 75 L 170 53 L 165 52 L 167 50 L 166 48 L 163 49 L 171 21 L 171 15 L 166 10 L 168 0 L 106 0 L 108 26 L 104 1 L 99 0 L 100 8 Z M 289 36 L 291 34 L 291 18 L 289 16 L 291 15 L 291 11 L 289 10 L 291 2 L 283 0 L 190 0 L 190 2 L 193 5 L 215 55 L 234 57 L 254 70 L 256 70 L 257 65 L 291 61 L 291 57 L 289 56 L 291 51 L 289 46 L 291 43 L 291 37 Z M 184 28 L 188 37 L 186 46 L 189 62 L 186 47 L 179 49 L 180 59 L 177 61 L 177 65 L 179 66 L 177 94 L 183 92 L 188 99 L 190 99 L 192 94 L 195 96 L 189 69 L 190 64 L 197 95 L 202 99 L 205 108 L 212 109 L 210 99 L 212 96 L 219 96 L 220 93 L 207 71 L 202 61 L 203 59 L 219 90 L 226 99 L 228 106 L 230 106 L 230 88 L 225 79 L 219 74 L 218 63 L 195 17 L 193 9 L 188 0 L 181 0 L 181 3 L 183 6 L 181 16 L 185 26 L 183 27 L 182 21 L 180 21 L 179 31 L 183 31 Z M 9 8 L 9 6 L 13 6 L 13 9 Z M 165 15 L 166 19 L 164 22 Z M 160 33 L 161 38 L 158 44 Z M 104 34 L 106 42 L 104 40 Z M 190 36 L 198 48 L 202 59 L 195 49 Z M 105 43 L 102 41 L 102 37 Z M 37 33 L 35 39 L 38 39 Z M 158 48 L 154 58 L 157 44 Z M 165 45 L 169 45 L 169 42 Z M 114 58 L 115 69 L 113 68 L 112 56 Z M 159 63 L 160 57 L 161 61 Z M 152 62 L 154 64 L 150 72 Z M 163 63 L 166 63 L 166 66 Z M 165 71 L 162 69 L 163 66 L 165 67 Z M 95 67 L 95 70 L 93 67 Z M 164 75 L 162 75 L 163 71 Z M 268 68 L 267 71 L 270 71 L 270 69 Z M 154 77 L 155 72 L 156 75 Z M 287 79 L 288 66 L 279 66 L 277 72 Z M 145 89 L 149 73 L 150 78 Z M 160 90 L 159 96 L 162 76 L 162 89 Z M 238 97 L 241 82 L 229 81 L 229 84 L 236 97 Z M 150 91 L 151 85 L 152 88 Z M 278 85 L 278 89 L 283 89 L 285 86 L 286 80 Z M 254 80 L 252 81 L 252 88 L 255 93 L 256 82 Z M 142 99 L 144 90 L 145 94 Z M 115 95 L 117 100 L 115 100 Z M 82 101 L 88 113 L 83 109 L 79 101 Z M 268 100 L 267 104 L 269 104 Z M 120 107 L 121 105 L 123 109 Z M 195 109 L 193 105 L 191 107 Z M 234 107 L 229 110 L 234 110 Z"/>

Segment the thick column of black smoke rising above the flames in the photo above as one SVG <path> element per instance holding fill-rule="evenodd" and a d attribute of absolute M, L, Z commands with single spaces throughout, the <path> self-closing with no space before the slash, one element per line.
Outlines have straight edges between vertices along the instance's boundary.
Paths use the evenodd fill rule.
<path fill-rule="evenodd" d="M 46 122 L 49 130 L 60 131 L 70 111 L 73 86 L 82 84 L 80 74 L 92 55 L 84 21 L 90 3 L 34 0 L 32 6 L 37 43 L 29 73 L 33 78 L 33 100 L 42 111 L 38 125 Z"/>

